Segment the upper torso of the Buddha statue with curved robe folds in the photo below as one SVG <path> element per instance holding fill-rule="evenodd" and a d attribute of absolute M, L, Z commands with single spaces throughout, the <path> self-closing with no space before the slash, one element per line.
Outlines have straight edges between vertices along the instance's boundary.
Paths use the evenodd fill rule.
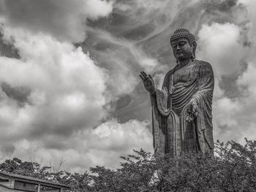
<path fill-rule="evenodd" d="M 163 88 L 167 88 L 171 97 L 171 108 L 181 115 L 192 96 L 200 88 L 207 89 L 212 94 L 214 77 L 211 65 L 205 61 L 191 61 L 184 67 L 176 66 L 165 76 Z"/>

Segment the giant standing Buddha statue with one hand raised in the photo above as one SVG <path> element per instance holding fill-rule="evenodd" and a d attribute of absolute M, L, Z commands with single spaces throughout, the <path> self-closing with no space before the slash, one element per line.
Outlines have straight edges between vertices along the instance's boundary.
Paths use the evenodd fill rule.
<path fill-rule="evenodd" d="M 165 74 L 162 90 L 155 88 L 150 74 L 140 72 L 151 97 L 155 155 L 213 153 L 211 64 L 195 59 L 195 36 L 185 28 L 174 32 L 170 45 L 177 64 Z"/>

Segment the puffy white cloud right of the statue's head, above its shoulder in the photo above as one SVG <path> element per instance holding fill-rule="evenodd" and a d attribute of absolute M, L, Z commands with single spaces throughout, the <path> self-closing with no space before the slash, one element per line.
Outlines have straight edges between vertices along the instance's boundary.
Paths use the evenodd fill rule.
<path fill-rule="evenodd" d="M 199 57 L 209 61 L 218 75 L 233 74 L 241 70 L 246 49 L 239 26 L 233 23 L 203 25 L 198 33 Z"/>

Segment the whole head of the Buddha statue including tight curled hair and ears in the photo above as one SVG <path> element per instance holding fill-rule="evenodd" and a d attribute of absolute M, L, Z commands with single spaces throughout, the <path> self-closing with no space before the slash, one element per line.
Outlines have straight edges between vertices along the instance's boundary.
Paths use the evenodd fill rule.
<path fill-rule="evenodd" d="M 173 48 L 173 55 L 178 61 L 195 59 L 197 43 L 195 36 L 186 28 L 178 28 L 170 37 L 170 45 Z"/>

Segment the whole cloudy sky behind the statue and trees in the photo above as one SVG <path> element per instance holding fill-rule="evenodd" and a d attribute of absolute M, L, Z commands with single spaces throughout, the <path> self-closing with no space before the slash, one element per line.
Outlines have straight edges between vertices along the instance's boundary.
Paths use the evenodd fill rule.
<path fill-rule="evenodd" d="M 255 0 L 0 0 L 0 161 L 84 172 L 152 151 L 149 97 L 178 27 L 214 68 L 214 139 L 256 139 Z"/>

